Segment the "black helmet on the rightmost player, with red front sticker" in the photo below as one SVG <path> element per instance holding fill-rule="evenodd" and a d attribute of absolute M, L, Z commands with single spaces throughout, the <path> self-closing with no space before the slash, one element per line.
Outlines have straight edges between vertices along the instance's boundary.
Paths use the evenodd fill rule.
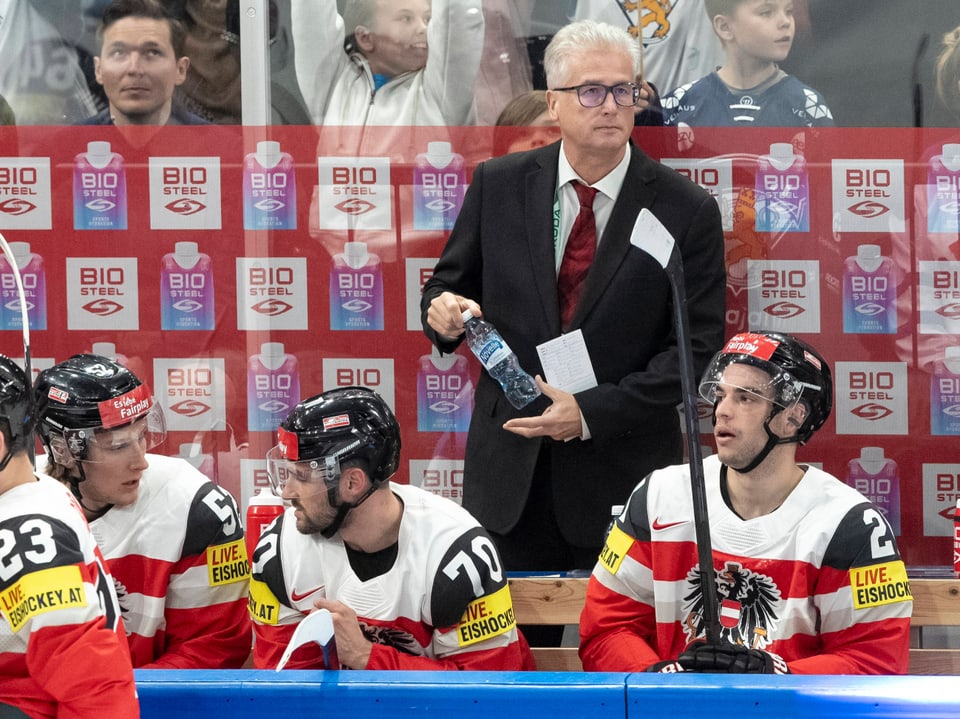
<path fill-rule="evenodd" d="M 806 407 L 806 416 L 795 438 L 804 444 L 823 426 L 833 406 L 833 380 L 827 361 L 803 340 L 784 332 L 741 332 L 732 337 L 703 374 L 700 396 L 716 405 L 716 388 L 723 371 L 735 362 L 752 365 L 770 375 L 769 389 L 774 404 L 771 417 L 797 403 Z M 769 432 L 769 430 L 768 430 Z"/>

